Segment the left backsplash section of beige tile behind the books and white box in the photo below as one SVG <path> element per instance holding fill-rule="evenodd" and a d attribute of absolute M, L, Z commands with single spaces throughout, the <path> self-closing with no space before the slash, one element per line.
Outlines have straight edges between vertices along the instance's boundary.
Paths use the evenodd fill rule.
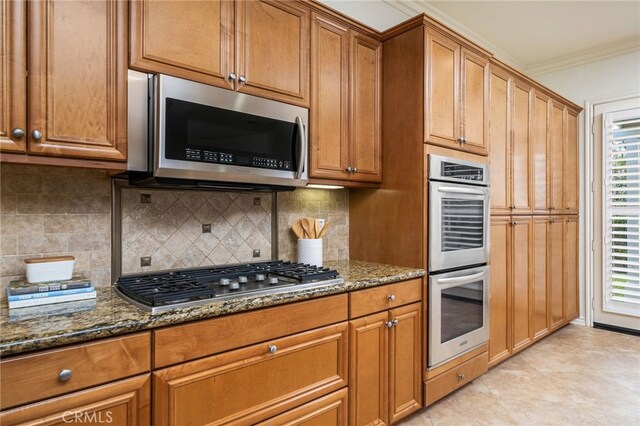
<path fill-rule="evenodd" d="M 111 180 L 104 171 L 0 166 L 0 297 L 24 259 L 71 255 L 97 286 L 111 280 Z"/>

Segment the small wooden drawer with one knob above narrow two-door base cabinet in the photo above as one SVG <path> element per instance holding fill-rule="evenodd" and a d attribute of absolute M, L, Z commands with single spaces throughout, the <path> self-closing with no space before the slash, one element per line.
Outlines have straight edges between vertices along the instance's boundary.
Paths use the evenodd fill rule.
<path fill-rule="evenodd" d="M 419 302 L 422 298 L 422 279 L 388 284 L 351 293 L 349 318 L 357 318 L 407 303 Z"/>

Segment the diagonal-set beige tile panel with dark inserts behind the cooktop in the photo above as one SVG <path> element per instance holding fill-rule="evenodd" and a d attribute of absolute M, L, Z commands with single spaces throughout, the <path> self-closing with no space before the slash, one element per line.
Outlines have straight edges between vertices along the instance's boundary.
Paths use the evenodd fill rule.
<path fill-rule="evenodd" d="M 141 195 L 151 202 L 142 204 Z M 254 205 L 260 198 L 260 205 Z M 271 259 L 271 194 L 122 188 L 122 272 Z M 203 233 L 202 225 L 211 224 Z M 261 257 L 253 258 L 259 249 Z M 140 258 L 151 257 L 141 267 Z"/>

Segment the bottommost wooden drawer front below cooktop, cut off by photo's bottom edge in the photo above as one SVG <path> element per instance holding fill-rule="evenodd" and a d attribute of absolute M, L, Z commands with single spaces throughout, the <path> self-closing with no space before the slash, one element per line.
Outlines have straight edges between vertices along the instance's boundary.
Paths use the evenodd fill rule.
<path fill-rule="evenodd" d="M 258 426 L 341 426 L 347 424 L 347 389 L 323 396 Z"/>

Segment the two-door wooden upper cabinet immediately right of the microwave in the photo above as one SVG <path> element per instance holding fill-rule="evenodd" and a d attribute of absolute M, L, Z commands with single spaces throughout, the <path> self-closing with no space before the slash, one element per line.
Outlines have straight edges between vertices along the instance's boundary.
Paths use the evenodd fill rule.
<path fill-rule="evenodd" d="M 312 14 L 310 177 L 378 183 L 382 44 Z"/>

